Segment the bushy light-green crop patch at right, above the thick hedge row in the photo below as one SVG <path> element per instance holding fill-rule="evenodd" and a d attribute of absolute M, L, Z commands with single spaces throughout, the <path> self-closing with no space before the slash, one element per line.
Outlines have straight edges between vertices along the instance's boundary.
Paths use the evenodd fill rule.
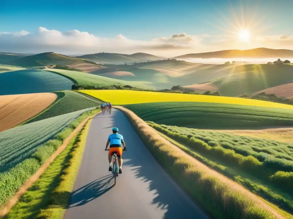
<path fill-rule="evenodd" d="M 180 133 L 188 138 L 194 137 L 206 142 L 211 147 L 223 147 L 234 150 L 243 156 L 253 156 L 268 168 L 277 171 L 293 171 L 293 144 L 270 139 L 231 135 L 216 131 L 205 131 L 178 126 L 160 125 L 163 129 Z"/>

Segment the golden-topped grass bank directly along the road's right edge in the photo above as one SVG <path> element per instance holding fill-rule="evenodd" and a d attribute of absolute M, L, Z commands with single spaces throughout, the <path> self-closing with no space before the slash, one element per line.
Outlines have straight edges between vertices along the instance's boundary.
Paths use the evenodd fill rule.
<path fill-rule="evenodd" d="M 122 110 L 167 173 L 214 218 L 285 218 L 259 197 L 172 145 L 130 110 Z"/>

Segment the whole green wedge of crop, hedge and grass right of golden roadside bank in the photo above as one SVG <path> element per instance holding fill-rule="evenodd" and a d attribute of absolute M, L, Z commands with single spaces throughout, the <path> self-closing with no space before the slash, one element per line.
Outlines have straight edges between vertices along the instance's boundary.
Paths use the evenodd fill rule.
<path fill-rule="evenodd" d="M 148 123 L 183 151 L 293 213 L 293 145 L 269 139 Z M 290 172 L 291 171 L 291 172 Z"/>

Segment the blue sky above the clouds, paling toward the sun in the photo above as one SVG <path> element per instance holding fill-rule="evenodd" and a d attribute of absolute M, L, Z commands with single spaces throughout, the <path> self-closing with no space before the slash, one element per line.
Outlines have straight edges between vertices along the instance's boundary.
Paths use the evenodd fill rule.
<path fill-rule="evenodd" d="M 291 0 L 1 0 L 0 32 L 34 33 L 45 27 L 149 41 L 180 33 L 222 37 L 236 31 L 231 25 L 246 28 L 252 20 L 258 35 L 291 36 L 292 8 Z M 236 25 L 236 17 L 244 23 Z"/>

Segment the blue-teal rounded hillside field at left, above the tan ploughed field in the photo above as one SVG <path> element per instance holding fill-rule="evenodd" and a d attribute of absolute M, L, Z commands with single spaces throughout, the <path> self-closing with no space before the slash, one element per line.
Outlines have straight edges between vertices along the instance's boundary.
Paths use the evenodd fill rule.
<path fill-rule="evenodd" d="M 58 74 L 25 69 L 0 74 L 0 95 L 71 90 L 73 82 Z"/>

